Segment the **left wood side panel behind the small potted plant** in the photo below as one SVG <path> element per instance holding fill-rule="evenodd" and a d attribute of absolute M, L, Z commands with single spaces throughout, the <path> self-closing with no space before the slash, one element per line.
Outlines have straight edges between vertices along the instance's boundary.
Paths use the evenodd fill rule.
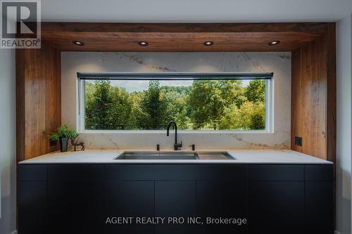
<path fill-rule="evenodd" d="M 61 56 L 51 46 L 16 50 L 17 160 L 58 150 L 48 135 L 61 125 Z"/>

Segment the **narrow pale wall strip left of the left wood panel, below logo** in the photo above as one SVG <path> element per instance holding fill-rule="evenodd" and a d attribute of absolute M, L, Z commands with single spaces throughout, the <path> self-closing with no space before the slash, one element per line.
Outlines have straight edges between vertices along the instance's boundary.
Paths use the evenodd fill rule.
<path fill-rule="evenodd" d="M 0 49 L 0 233 L 15 230 L 15 51 Z"/>

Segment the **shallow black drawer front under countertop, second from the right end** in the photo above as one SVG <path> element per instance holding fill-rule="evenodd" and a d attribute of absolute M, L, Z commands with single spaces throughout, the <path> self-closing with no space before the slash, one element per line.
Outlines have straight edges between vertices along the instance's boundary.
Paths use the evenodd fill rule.
<path fill-rule="evenodd" d="M 249 165 L 250 181 L 304 181 L 304 165 Z"/>

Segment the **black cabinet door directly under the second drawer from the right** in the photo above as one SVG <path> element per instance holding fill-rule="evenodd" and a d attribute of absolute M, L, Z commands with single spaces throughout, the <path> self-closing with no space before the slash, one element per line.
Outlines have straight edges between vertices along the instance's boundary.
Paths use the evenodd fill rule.
<path fill-rule="evenodd" d="M 303 181 L 251 181 L 250 233 L 304 233 Z"/>

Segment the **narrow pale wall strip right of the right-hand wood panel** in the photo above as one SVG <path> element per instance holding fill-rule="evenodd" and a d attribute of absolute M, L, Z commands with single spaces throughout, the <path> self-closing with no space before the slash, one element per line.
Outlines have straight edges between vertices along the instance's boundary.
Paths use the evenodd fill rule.
<path fill-rule="evenodd" d="M 337 231 L 351 233 L 351 17 L 337 23 Z"/>

